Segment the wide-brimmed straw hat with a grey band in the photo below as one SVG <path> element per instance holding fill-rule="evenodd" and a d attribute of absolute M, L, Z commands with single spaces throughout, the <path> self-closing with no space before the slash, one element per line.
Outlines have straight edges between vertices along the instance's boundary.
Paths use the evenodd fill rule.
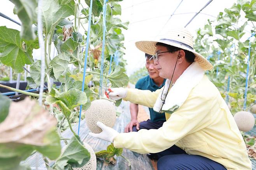
<path fill-rule="evenodd" d="M 150 55 L 154 55 L 156 51 L 156 43 L 161 42 L 174 47 L 179 47 L 184 50 L 191 51 L 195 54 L 195 61 L 203 68 L 204 70 L 212 69 L 213 66 L 210 64 L 207 59 L 205 59 L 201 54 L 196 52 L 193 48 L 193 38 L 191 33 L 185 28 L 175 28 L 170 29 L 164 36 L 160 36 L 155 41 L 139 41 L 136 42 L 136 47 Z"/>

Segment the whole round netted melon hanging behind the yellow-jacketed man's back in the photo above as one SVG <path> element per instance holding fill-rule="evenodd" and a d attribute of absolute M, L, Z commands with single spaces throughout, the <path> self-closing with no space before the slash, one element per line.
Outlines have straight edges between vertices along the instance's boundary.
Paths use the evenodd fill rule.
<path fill-rule="evenodd" d="M 234 115 L 235 122 L 239 130 L 247 132 L 254 127 L 255 118 L 254 116 L 247 111 L 238 111 Z"/>

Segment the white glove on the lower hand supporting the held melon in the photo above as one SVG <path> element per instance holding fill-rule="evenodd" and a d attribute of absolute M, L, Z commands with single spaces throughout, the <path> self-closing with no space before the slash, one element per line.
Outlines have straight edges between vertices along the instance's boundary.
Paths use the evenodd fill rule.
<path fill-rule="evenodd" d="M 114 138 L 119 134 L 116 130 L 114 130 L 113 128 L 107 127 L 100 121 L 97 122 L 97 126 L 102 129 L 102 132 L 100 132 L 99 134 L 90 132 L 89 135 L 113 143 Z"/>

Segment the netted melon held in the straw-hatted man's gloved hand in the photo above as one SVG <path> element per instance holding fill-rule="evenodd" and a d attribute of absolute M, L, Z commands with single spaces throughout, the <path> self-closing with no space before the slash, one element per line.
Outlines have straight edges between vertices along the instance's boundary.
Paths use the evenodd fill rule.
<path fill-rule="evenodd" d="M 91 102 L 91 106 L 85 112 L 86 124 L 93 133 L 102 132 L 96 123 L 101 121 L 108 127 L 113 127 L 116 122 L 116 110 L 112 102 L 100 99 Z"/>

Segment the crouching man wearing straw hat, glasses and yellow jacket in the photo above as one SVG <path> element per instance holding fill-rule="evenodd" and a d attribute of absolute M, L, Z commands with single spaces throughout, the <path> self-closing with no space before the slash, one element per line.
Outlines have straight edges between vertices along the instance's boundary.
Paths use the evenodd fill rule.
<path fill-rule="evenodd" d="M 167 121 L 158 129 L 118 133 L 102 128 L 94 137 L 137 153 L 158 153 L 158 170 L 251 170 L 242 135 L 219 90 L 204 75 L 212 65 L 193 49 L 193 38 L 184 28 L 171 29 L 156 41 L 136 42 L 154 55 L 165 86 L 156 92 L 112 88 L 109 96 L 165 112 Z"/>

